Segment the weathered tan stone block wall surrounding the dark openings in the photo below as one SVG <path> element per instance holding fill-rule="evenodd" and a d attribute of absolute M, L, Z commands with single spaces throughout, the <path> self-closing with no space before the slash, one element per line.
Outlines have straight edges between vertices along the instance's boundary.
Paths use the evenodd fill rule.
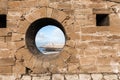
<path fill-rule="evenodd" d="M 0 0 L 0 4 L 0 14 L 7 15 L 7 27 L 0 28 L 1 80 L 120 80 L 119 0 Z M 96 14 L 108 14 L 110 25 L 96 26 Z M 52 58 L 37 57 L 26 45 L 30 24 L 45 17 L 59 21 L 67 36 L 63 51 Z"/>

